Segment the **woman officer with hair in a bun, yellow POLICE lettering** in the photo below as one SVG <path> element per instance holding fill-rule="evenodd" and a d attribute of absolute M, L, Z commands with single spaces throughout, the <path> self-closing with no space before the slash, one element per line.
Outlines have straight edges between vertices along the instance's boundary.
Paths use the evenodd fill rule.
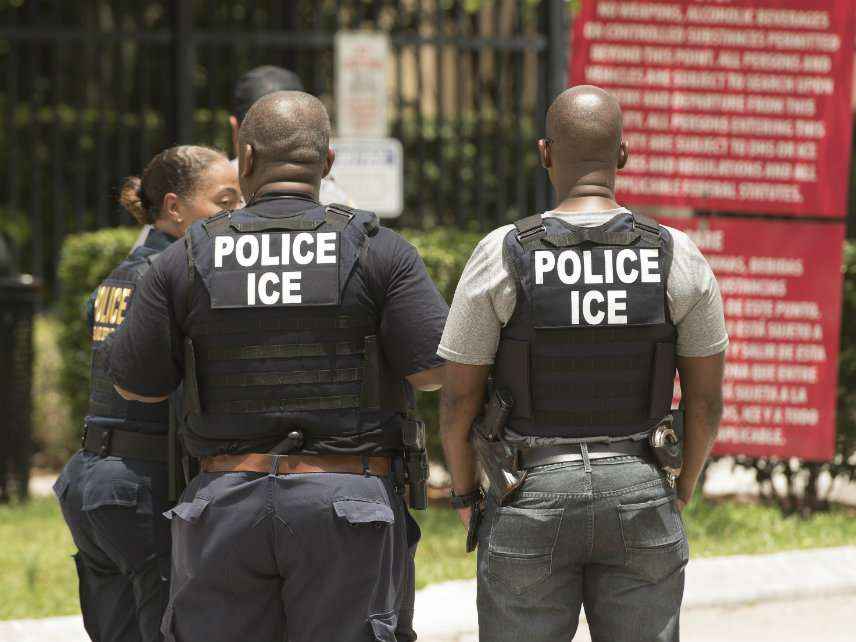
<path fill-rule="evenodd" d="M 179 146 L 128 178 L 121 202 L 151 228 L 88 302 L 92 368 L 83 448 L 54 492 L 78 548 L 83 623 L 93 640 L 161 640 L 169 597 L 170 404 L 126 401 L 113 389 L 105 346 L 136 303 L 142 276 L 190 224 L 236 207 L 238 175 L 213 149 Z"/>

